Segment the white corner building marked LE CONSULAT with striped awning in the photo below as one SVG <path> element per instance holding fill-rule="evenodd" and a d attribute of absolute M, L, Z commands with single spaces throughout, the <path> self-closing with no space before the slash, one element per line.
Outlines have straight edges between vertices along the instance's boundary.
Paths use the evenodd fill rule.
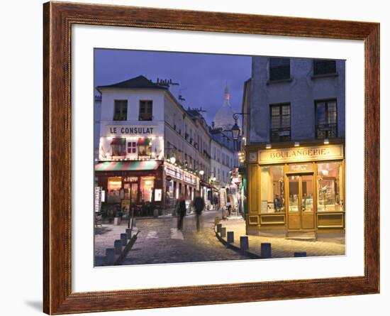
<path fill-rule="evenodd" d="M 211 136 L 203 116 L 186 111 L 172 94 L 176 87 L 172 80 L 143 76 L 97 87 L 95 180 L 107 208 L 138 205 L 137 214 L 150 215 L 151 208 L 173 207 L 179 197 L 189 205 L 196 192 L 206 200 Z"/>

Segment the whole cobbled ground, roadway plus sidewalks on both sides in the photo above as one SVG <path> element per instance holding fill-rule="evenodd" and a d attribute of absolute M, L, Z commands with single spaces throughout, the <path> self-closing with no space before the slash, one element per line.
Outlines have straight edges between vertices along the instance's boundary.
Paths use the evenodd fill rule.
<path fill-rule="evenodd" d="M 178 263 L 199 261 L 227 261 L 248 259 L 232 249 L 226 248 L 214 231 L 214 219 L 221 215 L 217 211 L 202 214 L 202 230 L 196 231 L 196 216 L 184 217 L 182 231 L 177 230 L 177 217 L 137 219 L 138 239 L 128 252 L 122 265 Z M 240 247 L 240 236 L 245 236 L 245 221 L 238 217 L 221 222 L 226 231 L 234 231 L 233 245 Z M 95 266 L 104 265 L 106 248 L 126 232 L 127 225 L 103 225 L 95 229 Z M 341 234 L 321 237 L 316 241 L 286 239 L 284 236 L 248 236 L 249 251 L 260 256 L 260 245 L 272 245 L 272 258 L 293 257 L 294 252 L 305 251 L 307 256 L 340 256 L 345 254 L 345 237 Z"/>

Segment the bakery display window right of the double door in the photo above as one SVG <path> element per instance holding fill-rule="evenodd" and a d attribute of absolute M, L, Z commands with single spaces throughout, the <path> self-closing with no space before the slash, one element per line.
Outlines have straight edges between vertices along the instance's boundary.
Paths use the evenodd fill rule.
<path fill-rule="evenodd" d="M 318 163 L 317 168 L 318 212 L 342 212 L 344 210 L 342 163 Z"/>

